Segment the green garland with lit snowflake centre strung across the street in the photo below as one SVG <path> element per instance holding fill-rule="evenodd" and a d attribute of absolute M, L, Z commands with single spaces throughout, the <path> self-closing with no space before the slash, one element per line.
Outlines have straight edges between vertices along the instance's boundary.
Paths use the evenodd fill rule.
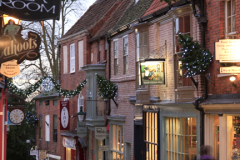
<path fill-rule="evenodd" d="M 78 95 L 81 90 L 83 89 L 83 87 L 85 86 L 85 84 L 87 83 L 87 80 L 83 80 L 82 83 L 80 83 L 76 89 L 74 90 L 66 90 L 66 89 L 62 89 L 60 87 L 60 85 L 51 77 L 45 76 L 43 78 L 41 78 L 38 82 L 36 82 L 34 85 L 31 85 L 28 89 L 23 90 L 23 89 L 19 89 L 16 85 L 14 85 L 12 83 L 11 80 L 8 80 L 8 91 L 12 94 L 18 95 L 18 96 L 23 96 L 23 97 L 27 97 L 30 94 L 32 94 L 33 92 L 35 92 L 40 85 L 43 83 L 46 84 L 45 86 L 47 86 L 46 88 L 50 88 L 49 87 L 49 81 L 51 81 L 53 83 L 54 88 L 56 89 L 57 92 L 59 92 L 60 95 L 63 95 L 64 97 L 74 97 L 76 95 Z"/>

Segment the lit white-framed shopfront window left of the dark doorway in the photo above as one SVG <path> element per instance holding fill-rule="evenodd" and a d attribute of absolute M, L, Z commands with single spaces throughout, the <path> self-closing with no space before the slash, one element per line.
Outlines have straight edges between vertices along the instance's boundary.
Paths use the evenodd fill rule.
<path fill-rule="evenodd" d="M 124 127 L 119 124 L 111 124 L 110 159 L 123 160 L 124 158 Z"/>

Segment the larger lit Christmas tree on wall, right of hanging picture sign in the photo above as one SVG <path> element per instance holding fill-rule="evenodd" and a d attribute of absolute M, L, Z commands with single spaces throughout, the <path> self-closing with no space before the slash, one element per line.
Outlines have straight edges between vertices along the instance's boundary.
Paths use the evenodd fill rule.
<path fill-rule="evenodd" d="M 186 71 L 184 77 L 192 77 L 200 73 L 204 73 L 206 68 L 209 66 L 213 60 L 212 54 L 209 50 L 202 48 L 202 46 L 197 42 L 193 41 L 192 37 L 187 34 L 179 36 L 179 44 L 181 47 L 181 52 L 178 53 L 180 56 L 180 61 L 182 61 L 181 69 Z"/>

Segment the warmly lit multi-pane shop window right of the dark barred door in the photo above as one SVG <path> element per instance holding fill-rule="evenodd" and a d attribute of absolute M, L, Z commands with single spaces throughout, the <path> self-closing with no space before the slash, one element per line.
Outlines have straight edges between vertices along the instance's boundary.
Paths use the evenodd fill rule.
<path fill-rule="evenodd" d="M 190 160 L 197 155 L 196 118 L 166 117 L 166 160 Z"/>

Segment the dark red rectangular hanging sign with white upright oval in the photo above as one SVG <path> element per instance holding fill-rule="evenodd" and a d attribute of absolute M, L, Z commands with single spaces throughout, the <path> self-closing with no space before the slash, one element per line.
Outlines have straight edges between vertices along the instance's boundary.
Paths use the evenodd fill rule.
<path fill-rule="evenodd" d="M 69 101 L 60 101 L 60 130 L 69 130 Z"/>

